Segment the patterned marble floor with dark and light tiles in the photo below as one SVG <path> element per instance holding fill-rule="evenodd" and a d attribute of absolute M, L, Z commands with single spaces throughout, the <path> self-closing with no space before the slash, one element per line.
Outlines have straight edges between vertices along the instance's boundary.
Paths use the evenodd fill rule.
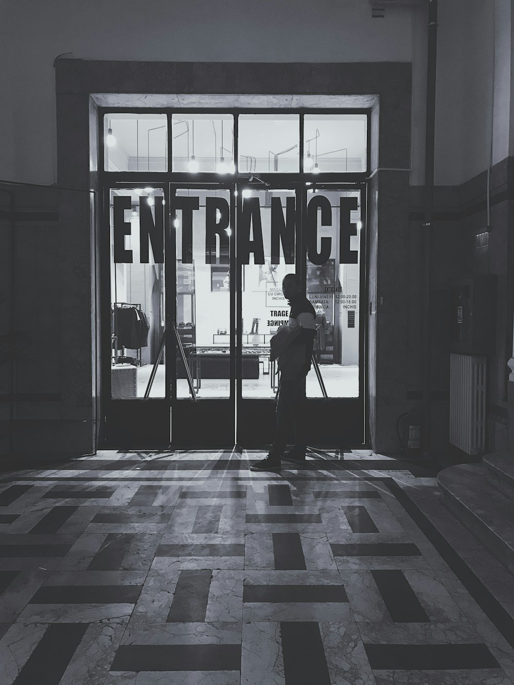
<path fill-rule="evenodd" d="M 473 570 L 497 562 L 441 506 L 435 462 L 259 458 L 3 474 L 0 683 L 514 682 L 513 578 L 502 601 Z"/>

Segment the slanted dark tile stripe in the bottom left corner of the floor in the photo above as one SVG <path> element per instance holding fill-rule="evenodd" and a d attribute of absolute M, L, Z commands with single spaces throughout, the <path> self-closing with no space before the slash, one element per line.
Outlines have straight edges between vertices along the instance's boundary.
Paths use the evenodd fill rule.
<path fill-rule="evenodd" d="M 58 685 L 88 625 L 88 623 L 49 625 L 13 685 L 34 685 L 34 683 Z"/>

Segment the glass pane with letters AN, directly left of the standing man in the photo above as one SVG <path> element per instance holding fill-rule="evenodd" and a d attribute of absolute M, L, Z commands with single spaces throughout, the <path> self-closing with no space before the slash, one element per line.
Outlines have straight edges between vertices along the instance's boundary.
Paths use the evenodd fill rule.
<path fill-rule="evenodd" d="M 269 340 L 289 322 L 282 279 L 295 273 L 295 192 L 247 189 L 242 195 L 238 239 L 243 241 L 243 397 L 273 398 L 278 376 L 269 361 Z M 282 239 L 273 242 L 272 235 L 276 238 L 279 232 Z M 254 251 L 246 251 L 245 258 L 248 238 L 255 241 Z M 272 245 L 278 245 L 275 255 Z"/>

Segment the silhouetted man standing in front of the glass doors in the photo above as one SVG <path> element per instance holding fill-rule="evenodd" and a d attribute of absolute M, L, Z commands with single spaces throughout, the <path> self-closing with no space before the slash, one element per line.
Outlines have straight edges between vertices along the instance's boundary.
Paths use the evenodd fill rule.
<path fill-rule="evenodd" d="M 278 471 L 282 459 L 304 462 L 306 456 L 305 398 L 306 377 L 310 371 L 316 332 L 316 312 L 302 295 L 302 282 L 294 273 L 282 280 L 282 292 L 289 301 L 289 325 L 271 338 L 271 361 L 278 360 L 280 382 L 276 406 L 275 440 L 265 459 L 250 467 L 252 471 Z M 287 430 L 293 421 L 295 445 L 286 449 Z"/>

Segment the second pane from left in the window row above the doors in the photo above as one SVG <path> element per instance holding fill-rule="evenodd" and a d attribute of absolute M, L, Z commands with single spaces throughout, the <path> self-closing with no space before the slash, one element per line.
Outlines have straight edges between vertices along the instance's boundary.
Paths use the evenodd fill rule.
<path fill-rule="evenodd" d="M 173 171 L 234 173 L 232 114 L 173 114 Z"/>

